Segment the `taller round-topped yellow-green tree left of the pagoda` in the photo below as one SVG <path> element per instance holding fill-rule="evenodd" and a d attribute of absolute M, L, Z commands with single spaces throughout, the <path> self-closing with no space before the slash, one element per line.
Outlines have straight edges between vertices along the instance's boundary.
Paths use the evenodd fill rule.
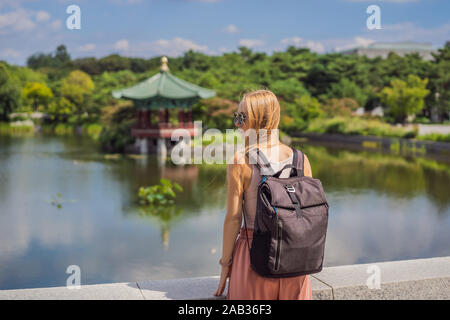
<path fill-rule="evenodd" d="M 91 77 L 80 70 L 72 71 L 67 78 L 62 80 L 62 97 L 75 106 L 78 120 L 80 120 L 81 114 L 88 110 L 88 100 L 93 90 L 94 83 Z"/>

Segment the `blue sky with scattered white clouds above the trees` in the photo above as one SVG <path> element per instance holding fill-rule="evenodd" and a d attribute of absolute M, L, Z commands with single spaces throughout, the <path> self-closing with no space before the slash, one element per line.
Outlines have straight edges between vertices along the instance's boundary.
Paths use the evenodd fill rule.
<path fill-rule="evenodd" d="M 67 27 L 70 5 L 80 8 L 80 29 Z M 381 29 L 367 27 L 370 5 L 380 8 Z M 325 53 L 414 41 L 439 48 L 448 40 L 450 0 L 0 0 L 0 60 L 18 65 L 60 44 L 72 58 L 150 58 L 239 46 Z"/>

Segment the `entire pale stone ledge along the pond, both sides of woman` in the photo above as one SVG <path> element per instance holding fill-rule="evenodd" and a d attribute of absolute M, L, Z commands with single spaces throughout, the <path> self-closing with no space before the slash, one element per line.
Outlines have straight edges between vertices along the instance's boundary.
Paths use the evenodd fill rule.
<path fill-rule="evenodd" d="M 380 289 L 366 285 L 369 266 L 380 271 Z M 311 276 L 313 299 L 448 299 L 450 257 L 379 262 L 324 268 Z M 134 299 L 207 300 L 213 296 L 218 276 L 130 283 L 0 290 L 0 299 Z"/>

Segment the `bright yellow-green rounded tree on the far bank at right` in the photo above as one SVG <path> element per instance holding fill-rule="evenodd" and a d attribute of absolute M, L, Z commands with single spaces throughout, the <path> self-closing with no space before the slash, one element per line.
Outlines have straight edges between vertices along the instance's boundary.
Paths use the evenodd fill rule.
<path fill-rule="evenodd" d="M 390 87 L 380 93 L 383 104 L 389 107 L 396 122 L 405 123 L 408 115 L 415 115 L 424 107 L 424 99 L 429 94 L 426 89 L 428 79 L 409 75 L 407 81 L 394 79 Z"/>

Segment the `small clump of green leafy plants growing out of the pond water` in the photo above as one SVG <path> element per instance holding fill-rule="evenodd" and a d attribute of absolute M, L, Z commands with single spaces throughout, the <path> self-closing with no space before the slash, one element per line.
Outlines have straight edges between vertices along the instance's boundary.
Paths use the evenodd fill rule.
<path fill-rule="evenodd" d="M 162 178 L 160 184 L 139 188 L 139 202 L 156 206 L 170 205 L 176 197 L 175 191 L 181 192 L 183 188 L 176 182 Z"/>

